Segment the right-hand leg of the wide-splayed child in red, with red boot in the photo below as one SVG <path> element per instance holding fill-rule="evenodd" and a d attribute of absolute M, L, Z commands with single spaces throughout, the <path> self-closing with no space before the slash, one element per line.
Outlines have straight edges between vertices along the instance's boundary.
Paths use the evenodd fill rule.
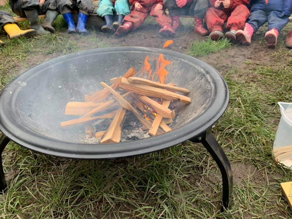
<path fill-rule="evenodd" d="M 174 36 L 175 31 L 171 27 L 171 18 L 165 13 L 161 4 L 155 4 L 150 11 L 150 15 L 153 16 L 156 22 L 162 27 L 159 33 L 162 36 Z"/>

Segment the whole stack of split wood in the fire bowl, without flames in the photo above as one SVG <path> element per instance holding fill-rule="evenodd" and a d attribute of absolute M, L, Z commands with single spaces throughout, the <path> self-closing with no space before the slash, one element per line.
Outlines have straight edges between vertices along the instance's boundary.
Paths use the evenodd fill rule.
<path fill-rule="evenodd" d="M 184 104 L 191 102 L 189 97 L 182 95 L 189 93 L 189 90 L 176 87 L 172 83 L 162 84 L 134 77 L 135 74 L 134 67 L 131 67 L 121 78 L 112 78 L 110 86 L 100 82 L 104 89 L 92 96 L 85 95 L 86 102 L 68 102 L 65 115 L 82 116 L 78 119 L 62 122 L 61 127 L 71 127 L 88 124 L 94 120 L 112 118 L 107 130 L 96 132 L 95 137 L 101 139 L 100 143 L 120 142 L 122 122 L 126 112 L 130 111 L 144 127 L 149 129 L 149 134 L 156 135 L 170 131 L 171 128 L 162 119 L 163 117 L 171 121 L 174 119 L 175 113 L 169 109 L 171 101 L 178 100 Z M 162 101 L 158 103 L 151 97 L 159 98 Z M 145 114 L 144 106 L 152 109 L 152 122 L 141 116 L 141 114 Z M 92 132 L 92 128 L 87 127 L 89 127 L 87 132 Z"/>

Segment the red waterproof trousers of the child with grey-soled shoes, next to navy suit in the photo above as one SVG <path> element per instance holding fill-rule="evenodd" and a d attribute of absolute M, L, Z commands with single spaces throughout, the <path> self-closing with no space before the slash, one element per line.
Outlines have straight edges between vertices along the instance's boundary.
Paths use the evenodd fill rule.
<path fill-rule="evenodd" d="M 205 22 L 210 32 L 223 31 L 227 21 L 228 30 L 243 30 L 246 19 L 249 17 L 249 9 L 245 5 L 238 5 L 233 11 L 224 12 L 214 7 L 208 8 Z"/>

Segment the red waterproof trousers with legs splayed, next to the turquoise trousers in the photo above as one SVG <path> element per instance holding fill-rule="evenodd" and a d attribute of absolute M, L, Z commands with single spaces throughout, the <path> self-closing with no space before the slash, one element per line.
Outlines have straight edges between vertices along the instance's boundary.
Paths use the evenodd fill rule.
<path fill-rule="evenodd" d="M 139 1 L 139 3 L 142 5 L 142 8 L 140 11 L 137 11 L 135 7 L 132 7 L 132 11 L 129 15 L 126 15 L 123 19 L 124 22 L 132 22 L 134 27 L 133 29 L 137 29 L 140 25 L 142 25 L 147 18 L 147 16 L 150 15 L 154 16 L 157 23 L 163 27 L 164 25 L 170 25 L 171 26 L 171 18 L 168 14 L 165 13 L 164 9 L 155 9 L 157 1 L 147 1 L 147 3 L 144 3 L 144 1 Z"/>

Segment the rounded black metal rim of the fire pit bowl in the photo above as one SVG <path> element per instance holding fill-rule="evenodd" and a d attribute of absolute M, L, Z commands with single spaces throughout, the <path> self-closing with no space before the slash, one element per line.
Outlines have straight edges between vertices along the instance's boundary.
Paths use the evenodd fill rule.
<path fill-rule="evenodd" d="M 21 75 L 19 75 L 17 78 L 12 80 L 12 82 L 9 83 L 1 92 L 0 94 L 0 103 L 1 100 L 4 99 L 5 95 L 8 95 L 8 93 L 11 91 L 8 88 L 11 87 L 13 83 L 17 83 L 17 81 L 25 81 L 27 80 L 26 77 L 30 76 L 32 73 L 35 72 L 38 69 L 43 69 L 46 67 L 46 65 L 50 63 L 56 63 L 60 61 L 65 61 L 70 58 L 73 58 L 78 54 L 79 56 L 82 56 L 83 54 L 85 56 L 88 56 L 89 54 L 96 54 L 96 53 L 103 53 L 108 51 L 116 51 L 116 52 L 126 52 L 126 51 L 133 51 L 133 50 L 142 50 L 145 52 L 157 52 L 157 53 L 163 53 L 168 54 L 170 56 L 176 56 L 180 57 L 181 59 L 187 60 L 191 63 L 196 63 L 200 66 L 204 66 L 204 70 L 208 72 L 213 78 L 216 78 L 216 98 L 214 99 L 214 102 L 212 105 L 220 105 L 220 107 L 216 107 L 217 112 L 214 113 L 213 108 L 210 106 L 209 109 L 206 109 L 202 114 L 200 114 L 194 121 L 190 121 L 188 124 L 186 124 L 183 127 L 180 127 L 176 130 L 172 130 L 171 132 L 149 137 L 147 139 L 143 140 L 135 140 L 135 141 L 125 141 L 120 143 L 112 143 L 112 144 L 77 144 L 77 143 L 69 143 L 60 141 L 54 138 L 50 138 L 47 136 L 43 136 L 37 132 L 33 132 L 30 130 L 23 131 L 20 127 L 18 127 L 14 123 L 9 123 L 8 116 L 3 117 L 2 116 L 2 107 L 3 105 L 6 105 L 3 103 L 0 105 L 0 130 L 2 133 L 7 136 L 12 141 L 16 142 L 17 144 L 28 148 L 33 151 L 37 151 L 43 154 L 47 155 L 54 155 L 59 157 L 67 157 L 67 158 L 76 158 L 76 159 L 107 159 L 107 158 L 120 158 L 120 157 L 128 157 L 128 156 L 134 156 L 134 155 L 142 155 L 146 153 L 151 153 L 154 151 L 159 151 L 165 148 L 172 147 L 176 144 L 182 143 L 186 140 L 189 140 L 191 138 L 194 138 L 198 136 L 199 134 L 203 133 L 205 130 L 207 130 L 209 127 L 211 127 L 225 112 L 228 101 L 229 101 L 229 92 L 228 92 L 228 86 L 222 77 L 222 75 L 219 74 L 219 72 L 208 65 L 207 63 L 204 63 L 194 57 L 187 56 L 185 54 L 173 52 L 170 50 L 163 50 L 163 49 L 156 49 L 156 48 L 145 48 L 145 47 L 111 47 L 111 48 L 105 48 L 105 49 L 93 49 L 93 50 L 86 50 L 82 52 L 76 52 L 68 55 L 62 55 L 60 57 L 56 57 L 54 59 L 51 59 L 50 61 L 46 61 L 42 64 L 36 65 L 33 68 L 30 68 L 29 70 L 25 71 Z M 17 89 L 17 88 L 16 88 Z M 15 89 L 15 90 L 16 90 Z M 8 98 L 9 101 L 11 101 L 14 98 L 16 98 L 17 92 L 13 92 L 12 94 L 9 94 L 11 98 Z M 9 101 L 6 101 L 6 103 L 9 103 Z M 210 109 L 212 110 L 210 111 Z M 4 113 L 5 114 L 5 113 Z M 207 115 L 206 115 L 207 114 Z M 203 116 L 204 115 L 204 116 Z M 204 117 L 204 118 L 203 118 Z M 206 120 L 207 118 L 207 120 Z M 201 126 L 196 127 L 195 123 L 201 123 Z M 15 133 L 15 134 L 14 134 Z M 37 143 L 36 143 L 37 142 Z M 143 145 L 143 148 L 137 148 L 137 145 Z M 54 145 L 57 145 L 57 147 L 53 147 Z M 98 147 L 96 147 L 98 145 Z M 84 148 L 87 148 L 87 150 L 84 150 Z M 69 150 L 70 149 L 70 150 Z M 103 150 L 101 150 L 103 149 Z"/>

